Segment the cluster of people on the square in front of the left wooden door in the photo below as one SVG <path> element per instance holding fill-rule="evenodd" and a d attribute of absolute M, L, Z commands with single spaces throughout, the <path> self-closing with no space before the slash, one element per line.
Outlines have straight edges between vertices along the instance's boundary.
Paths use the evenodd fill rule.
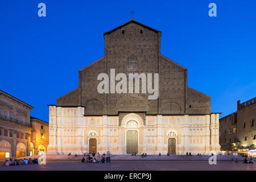
<path fill-rule="evenodd" d="M 97 152 L 97 154 L 95 154 L 94 152 L 92 154 L 84 154 L 81 162 L 82 163 L 110 163 L 111 162 L 111 154 L 108 151 L 107 154 L 102 154 L 100 155 L 99 152 Z"/>

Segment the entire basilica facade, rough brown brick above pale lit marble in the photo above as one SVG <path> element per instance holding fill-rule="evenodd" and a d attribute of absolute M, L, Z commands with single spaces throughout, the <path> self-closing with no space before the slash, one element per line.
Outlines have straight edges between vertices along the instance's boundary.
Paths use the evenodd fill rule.
<path fill-rule="evenodd" d="M 160 53 L 161 34 L 133 19 L 104 33 L 104 57 L 80 69 L 78 88 L 57 98 L 56 105 L 48 105 L 49 152 L 220 151 L 219 113 L 212 113 L 210 96 L 188 87 L 187 69 Z M 152 92 L 142 92 L 142 81 L 141 92 L 135 92 L 135 84 L 134 92 L 111 92 L 111 88 L 109 93 L 98 92 L 98 75 L 110 76 L 113 69 L 116 75 L 157 73 L 158 86 L 153 87 L 158 88 L 158 97 L 150 100 Z"/>

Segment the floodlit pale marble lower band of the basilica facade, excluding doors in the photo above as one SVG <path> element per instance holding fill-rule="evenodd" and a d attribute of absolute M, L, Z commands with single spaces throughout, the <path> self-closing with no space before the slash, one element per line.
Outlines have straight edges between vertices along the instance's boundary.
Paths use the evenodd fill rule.
<path fill-rule="evenodd" d="M 84 154 L 95 138 L 97 152 L 127 154 L 127 131 L 138 132 L 138 154 L 167 154 L 168 139 L 174 138 L 175 154 L 220 152 L 218 113 L 205 115 L 85 116 L 84 107 L 49 106 L 48 152 Z"/>

